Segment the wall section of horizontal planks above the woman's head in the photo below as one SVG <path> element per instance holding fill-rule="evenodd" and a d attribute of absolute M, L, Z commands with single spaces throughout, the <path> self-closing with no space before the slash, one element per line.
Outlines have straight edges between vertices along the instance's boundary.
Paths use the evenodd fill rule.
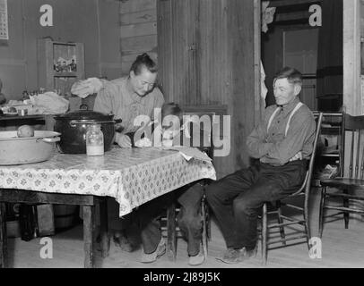
<path fill-rule="evenodd" d="M 137 55 L 147 52 L 157 59 L 156 0 L 120 2 L 120 52 L 122 73 L 128 74 Z"/>

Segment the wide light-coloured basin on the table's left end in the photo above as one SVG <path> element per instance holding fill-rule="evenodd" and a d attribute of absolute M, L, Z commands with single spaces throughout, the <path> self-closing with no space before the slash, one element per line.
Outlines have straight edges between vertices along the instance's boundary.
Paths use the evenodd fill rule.
<path fill-rule="evenodd" d="M 31 164 L 46 161 L 59 133 L 34 131 L 34 137 L 18 138 L 17 131 L 0 132 L 0 164 Z"/>

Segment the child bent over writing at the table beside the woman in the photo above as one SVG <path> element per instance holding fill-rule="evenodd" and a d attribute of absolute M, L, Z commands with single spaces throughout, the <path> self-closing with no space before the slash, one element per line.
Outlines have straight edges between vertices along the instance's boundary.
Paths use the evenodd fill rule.
<path fill-rule="evenodd" d="M 166 128 L 160 125 L 162 128 L 162 146 L 182 146 L 183 142 L 190 141 L 188 139 L 190 137 L 189 134 L 192 137 L 200 136 L 200 143 L 204 142 L 204 136 L 207 136 L 207 134 L 204 130 L 200 130 L 199 126 L 195 126 L 196 128 L 192 129 L 194 133 L 189 133 L 185 130 L 187 124 L 180 128 L 182 110 L 178 105 L 174 103 L 164 104 L 161 108 L 162 120 L 168 115 L 172 115 L 170 117 L 172 119 L 171 126 Z M 173 119 L 177 122 L 173 122 Z M 196 130 L 197 132 L 195 132 Z M 187 136 L 187 140 L 184 140 L 185 136 Z M 150 147 L 154 146 L 154 143 L 153 139 L 148 138 L 135 140 L 136 147 Z M 160 216 L 166 207 L 170 206 L 176 199 L 181 206 L 177 219 L 178 226 L 187 240 L 188 263 L 189 265 L 201 265 L 204 263 L 204 251 L 201 246 L 203 228 L 201 199 L 203 196 L 204 185 L 201 181 L 195 181 L 160 198 L 154 198 L 151 202 L 139 207 L 136 216 L 139 219 L 141 228 L 143 263 L 154 262 L 166 252 L 166 242 L 162 238 L 160 231 Z"/>

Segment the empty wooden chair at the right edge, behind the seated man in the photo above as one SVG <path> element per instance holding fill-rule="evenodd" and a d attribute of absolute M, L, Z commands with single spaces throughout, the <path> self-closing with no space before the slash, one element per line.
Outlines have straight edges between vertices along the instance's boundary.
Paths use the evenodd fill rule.
<path fill-rule="evenodd" d="M 364 209 L 359 209 L 351 206 L 352 202 L 364 201 L 364 147 L 362 143 L 363 131 L 363 115 L 351 116 L 349 114 L 343 114 L 341 137 L 342 150 L 340 150 L 340 175 L 334 179 L 326 179 L 320 181 L 320 184 L 322 186 L 318 230 L 320 238 L 322 237 L 326 217 L 343 214 L 345 229 L 347 229 L 349 227 L 350 214 L 364 214 Z M 345 160 L 344 157 L 346 139 L 350 139 L 348 142 L 350 144 L 349 160 Z M 349 165 L 347 165 L 347 163 L 349 163 Z M 349 170 L 349 176 L 344 175 L 344 165 L 349 167 L 347 168 L 347 170 Z M 342 199 L 342 206 L 334 206 L 332 198 Z M 326 210 L 336 210 L 339 212 L 325 215 Z"/>

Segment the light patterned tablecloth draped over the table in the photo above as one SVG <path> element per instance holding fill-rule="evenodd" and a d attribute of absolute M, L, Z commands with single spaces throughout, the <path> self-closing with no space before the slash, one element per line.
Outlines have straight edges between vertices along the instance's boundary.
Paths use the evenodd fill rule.
<path fill-rule="evenodd" d="M 104 156 L 59 154 L 38 164 L 0 166 L 0 189 L 108 196 L 120 216 L 133 208 L 200 179 L 216 180 L 210 162 L 186 161 L 157 147 L 114 147 Z"/>

